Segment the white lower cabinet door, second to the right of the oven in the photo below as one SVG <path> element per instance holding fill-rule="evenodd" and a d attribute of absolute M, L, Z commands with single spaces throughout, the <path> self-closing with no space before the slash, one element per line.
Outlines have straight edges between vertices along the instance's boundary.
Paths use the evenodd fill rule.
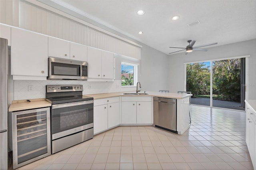
<path fill-rule="evenodd" d="M 119 125 L 119 102 L 108 104 L 108 128 Z"/>

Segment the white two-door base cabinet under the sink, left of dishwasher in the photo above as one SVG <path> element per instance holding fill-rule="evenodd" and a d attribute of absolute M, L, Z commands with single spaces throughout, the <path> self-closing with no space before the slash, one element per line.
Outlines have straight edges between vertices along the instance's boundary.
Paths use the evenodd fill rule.
<path fill-rule="evenodd" d="M 152 97 L 122 97 L 122 124 L 152 124 Z"/>

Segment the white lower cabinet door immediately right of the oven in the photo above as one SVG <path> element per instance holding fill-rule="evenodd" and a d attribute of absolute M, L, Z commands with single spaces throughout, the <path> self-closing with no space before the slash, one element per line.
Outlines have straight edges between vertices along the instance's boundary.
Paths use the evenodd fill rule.
<path fill-rule="evenodd" d="M 108 105 L 93 107 L 94 134 L 108 129 Z"/>

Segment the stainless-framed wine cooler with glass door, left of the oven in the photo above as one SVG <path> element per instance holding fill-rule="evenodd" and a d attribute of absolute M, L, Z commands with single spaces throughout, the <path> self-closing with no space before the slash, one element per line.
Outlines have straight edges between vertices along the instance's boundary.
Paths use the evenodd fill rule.
<path fill-rule="evenodd" d="M 51 154 L 50 108 L 12 112 L 13 169 Z"/>

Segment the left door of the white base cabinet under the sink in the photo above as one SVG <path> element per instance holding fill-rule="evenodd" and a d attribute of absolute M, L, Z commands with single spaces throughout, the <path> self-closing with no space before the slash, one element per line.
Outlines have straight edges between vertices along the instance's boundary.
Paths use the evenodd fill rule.
<path fill-rule="evenodd" d="M 122 124 L 136 124 L 136 102 L 122 102 Z"/>

